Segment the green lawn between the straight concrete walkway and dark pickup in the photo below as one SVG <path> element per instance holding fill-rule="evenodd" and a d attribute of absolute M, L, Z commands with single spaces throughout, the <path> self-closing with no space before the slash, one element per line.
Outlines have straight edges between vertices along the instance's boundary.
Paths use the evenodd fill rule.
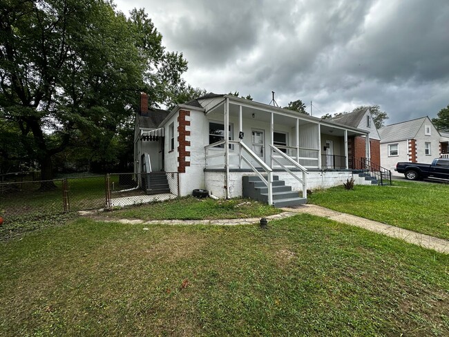
<path fill-rule="evenodd" d="M 393 182 L 316 191 L 310 204 L 449 240 L 449 184 Z"/>

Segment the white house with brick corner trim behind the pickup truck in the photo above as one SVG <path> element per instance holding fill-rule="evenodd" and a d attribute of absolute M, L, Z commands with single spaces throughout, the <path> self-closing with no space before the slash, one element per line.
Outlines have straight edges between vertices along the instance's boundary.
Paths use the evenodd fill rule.
<path fill-rule="evenodd" d="M 381 165 L 392 172 L 397 162 L 430 164 L 440 156 L 441 135 L 427 116 L 384 126 L 379 135 Z"/>

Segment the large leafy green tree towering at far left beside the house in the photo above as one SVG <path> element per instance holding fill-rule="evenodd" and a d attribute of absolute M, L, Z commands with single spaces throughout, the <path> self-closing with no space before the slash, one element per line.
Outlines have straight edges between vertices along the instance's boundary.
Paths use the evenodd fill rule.
<path fill-rule="evenodd" d="M 182 84 L 182 54 L 164 50 L 143 10 L 130 14 L 102 0 L 1 1 L 0 118 L 43 180 L 73 135 L 107 144 L 141 91 L 164 104 Z"/>

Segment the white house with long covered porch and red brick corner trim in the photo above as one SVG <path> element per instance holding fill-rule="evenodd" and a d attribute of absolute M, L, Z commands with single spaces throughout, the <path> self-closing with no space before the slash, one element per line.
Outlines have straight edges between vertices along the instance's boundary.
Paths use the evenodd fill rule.
<path fill-rule="evenodd" d="M 170 112 L 147 104 L 142 95 L 135 173 L 177 172 L 180 195 L 191 195 L 193 189 L 218 198 L 249 195 L 243 177 L 256 176 L 269 204 L 288 194 L 280 192 L 276 179 L 292 186 L 296 197 L 299 191 L 305 196 L 307 188 L 350 179 L 347 142 L 368 135 L 367 130 L 232 95 L 209 93 Z"/>

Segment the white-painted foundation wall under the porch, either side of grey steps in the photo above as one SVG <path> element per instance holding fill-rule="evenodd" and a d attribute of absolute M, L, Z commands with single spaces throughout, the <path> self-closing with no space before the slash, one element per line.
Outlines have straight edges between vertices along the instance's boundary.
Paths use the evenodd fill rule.
<path fill-rule="evenodd" d="M 301 173 L 300 177 L 302 177 Z M 207 191 L 218 198 L 225 198 L 226 191 L 223 184 L 224 172 L 205 172 L 204 178 L 206 180 Z M 229 173 L 229 191 L 230 198 L 238 198 L 242 196 L 242 177 L 244 175 L 256 175 L 251 172 L 230 172 Z M 287 186 L 292 186 L 293 191 L 302 191 L 298 180 L 287 172 L 274 172 L 273 175 L 277 175 L 279 180 L 284 180 Z M 314 171 L 309 172 L 307 175 L 307 189 L 328 189 L 329 187 L 343 185 L 347 179 L 351 179 L 351 172 L 338 172 L 338 171 Z M 370 180 L 365 180 L 363 177 L 354 175 L 355 184 L 371 185 Z"/>

